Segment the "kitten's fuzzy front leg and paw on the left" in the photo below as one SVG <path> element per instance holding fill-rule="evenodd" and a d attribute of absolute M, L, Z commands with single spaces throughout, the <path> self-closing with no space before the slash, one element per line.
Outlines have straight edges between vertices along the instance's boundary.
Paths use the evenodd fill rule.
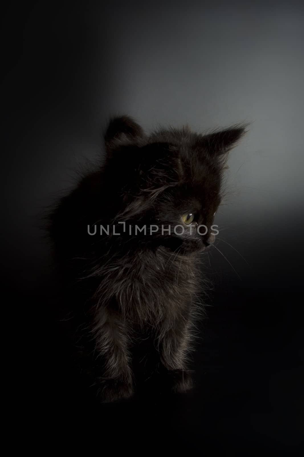
<path fill-rule="evenodd" d="M 101 308 L 95 317 L 96 350 L 104 359 L 101 396 L 104 402 L 133 395 L 132 371 L 128 351 L 129 337 L 124 320 L 117 313 Z"/>

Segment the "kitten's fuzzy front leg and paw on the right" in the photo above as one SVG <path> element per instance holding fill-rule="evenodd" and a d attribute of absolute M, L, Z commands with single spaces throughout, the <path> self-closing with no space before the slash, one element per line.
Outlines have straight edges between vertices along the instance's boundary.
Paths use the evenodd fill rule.
<path fill-rule="evenodd" d="M 185 392 L 193 386 L 186 363 L 190 341 L 190 320 L 166 323 L 160 333 L 160 360 L 173 392 Z"/>

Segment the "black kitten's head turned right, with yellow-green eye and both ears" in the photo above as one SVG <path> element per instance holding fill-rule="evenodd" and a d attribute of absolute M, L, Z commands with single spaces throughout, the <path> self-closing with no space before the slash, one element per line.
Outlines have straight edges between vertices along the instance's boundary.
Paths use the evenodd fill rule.
<path fill-rule="evenodd" d="M 116 221 L 145 226 L 138 243 L 205 250 L 214 241 L 227 153 L 244 132 L 234 126 L 202 135 L 186 126 L 148 136 L 130 117 L 113 119 L 105 134 L 104 175 L 113 177 L 115 170 L 109 186 L 118 196 Z"/>

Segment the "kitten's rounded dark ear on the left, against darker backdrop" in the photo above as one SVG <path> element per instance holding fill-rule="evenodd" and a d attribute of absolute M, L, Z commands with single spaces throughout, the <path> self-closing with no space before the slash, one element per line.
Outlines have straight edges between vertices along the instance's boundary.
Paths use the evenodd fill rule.
<path fill-rule="evenodd" d="M 111 119 L 104 135 L 106 147 L 128 142 L 136 138 L 143 138 L 144 131 L 132 117 L 121 116 Z"/>

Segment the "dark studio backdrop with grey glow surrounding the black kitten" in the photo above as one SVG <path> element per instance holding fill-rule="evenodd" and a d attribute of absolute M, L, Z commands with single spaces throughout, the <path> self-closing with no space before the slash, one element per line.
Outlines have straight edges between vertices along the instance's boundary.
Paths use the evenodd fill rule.
<path fill-rule="evenodd" d="M 303 21 L 295 1 L 29 2 L 3 15 L 2 277 L 13 322 L 18 313 L 30 321 L 21 372 L 55 442 L 63 418 L 94 421 L 103 446 L 114 436 L 128 450 L 144 440 L 159 452 L 165 441 L 213 455 L 300 453 Z M 99 408 L 57 337 L 38 225 L 43 208 L 73 185 L 72 170 L 103 154 L 101 132 L 120 113 L 147 130 L 250 126 L 228 161 L 215 221 L 221 253 L 206 260 L 215 292 L 195 391 Z"/>

